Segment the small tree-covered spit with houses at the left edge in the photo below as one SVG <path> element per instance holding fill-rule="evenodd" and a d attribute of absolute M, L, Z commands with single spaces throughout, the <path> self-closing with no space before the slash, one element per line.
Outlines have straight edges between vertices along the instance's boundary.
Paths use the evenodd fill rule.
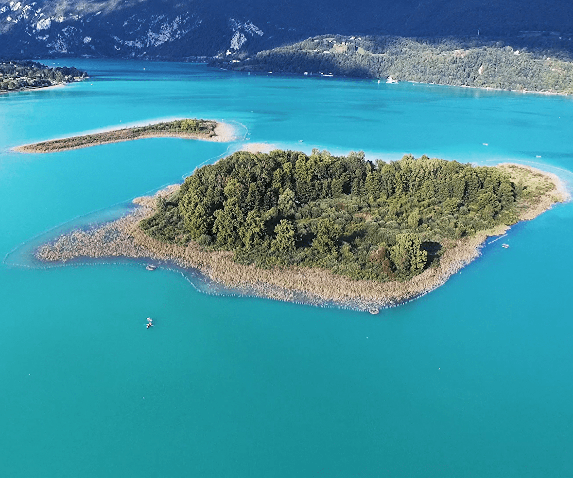
<path fill-rule="evenodd" d="M 0 60 L 0 93 L 72 83 L 87 77 L 87 72 L 74 67 L 49 68 L 37 61 Z"/>

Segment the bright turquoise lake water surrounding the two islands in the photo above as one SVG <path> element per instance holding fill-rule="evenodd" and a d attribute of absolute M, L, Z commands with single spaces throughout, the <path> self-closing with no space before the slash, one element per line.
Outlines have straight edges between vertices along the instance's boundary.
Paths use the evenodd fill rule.
<path fill-rule="evenodd" d="M 571 97 L 52 63 L 92 78 L 0 96 L 1 257 L 238 147 L 9 150 L 157 118 L 224 119 L 245 141 L 307 152 L 513 160 L 573 177 Z M 210 296 L 137 264 L 6 261 L 0 476 L 573 476 L 572 238 L 573 205 L 554 207 L 514 226 L 509 249 L 490 244 L 446 285 L 378 316 Z"/>

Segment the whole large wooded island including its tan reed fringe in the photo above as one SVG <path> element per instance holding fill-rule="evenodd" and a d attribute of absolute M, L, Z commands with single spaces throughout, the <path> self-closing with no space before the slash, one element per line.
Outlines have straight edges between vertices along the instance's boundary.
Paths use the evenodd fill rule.
<path fill-rule="evenodd" d="M 245 292 L 364 309 L 429 292 L 486 236 L 565 195 L 555 176 L 520 165 L 239 151 L 37 257 L 156 258 Z"/>

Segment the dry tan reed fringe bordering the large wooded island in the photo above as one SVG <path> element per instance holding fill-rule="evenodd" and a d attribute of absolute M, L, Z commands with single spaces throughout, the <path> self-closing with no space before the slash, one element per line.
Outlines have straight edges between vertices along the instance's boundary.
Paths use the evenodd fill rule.
<path fill-rule="evenodd" d="M 272 146 L 272 145 L 271 145 Z M 517 166 L 517 168 L 516 168 Z M 533 207 L 520 215 L 529 220 L 558 202 L 570 199 L 558 176 L 531 166 L 502 164 L 498 167 L 513 176 L 533 173 L 549 178 L 554 185 Z M 430 267 L 407 282 L 355 281 L 328 270 L 310 267 L 275 267 L 258 269 L 253 265 L 233 262 L 232 252 L 208 251 L 195 243 L 187 246 L 161 243 L 139 229 L 139 221 L 154 214 L 157 196 L 171 195 L 179 185 L 169 186 L 155 196 L 136 198 L 139 207 L 126 216 L 104 223 L 88 231 L 76 230 L 62 235 L 38 248 L 36 257 L 46 262 L 66 262 L 78 257 L 149 258 L 166 261 L 182 268 L 194 268 L 223 286 L 244 294 L 284 301 L 306 302 L 313 305 L 336 305 L 343 308 L 367 310 L 386 308 L 423 296 L 443 285 L 448 278 L 468 265 L 480 254 L 489 236 L 499 236 L 510 226 L 481 231 L 471 238 L 450 241 L 438 267 Z"/>

